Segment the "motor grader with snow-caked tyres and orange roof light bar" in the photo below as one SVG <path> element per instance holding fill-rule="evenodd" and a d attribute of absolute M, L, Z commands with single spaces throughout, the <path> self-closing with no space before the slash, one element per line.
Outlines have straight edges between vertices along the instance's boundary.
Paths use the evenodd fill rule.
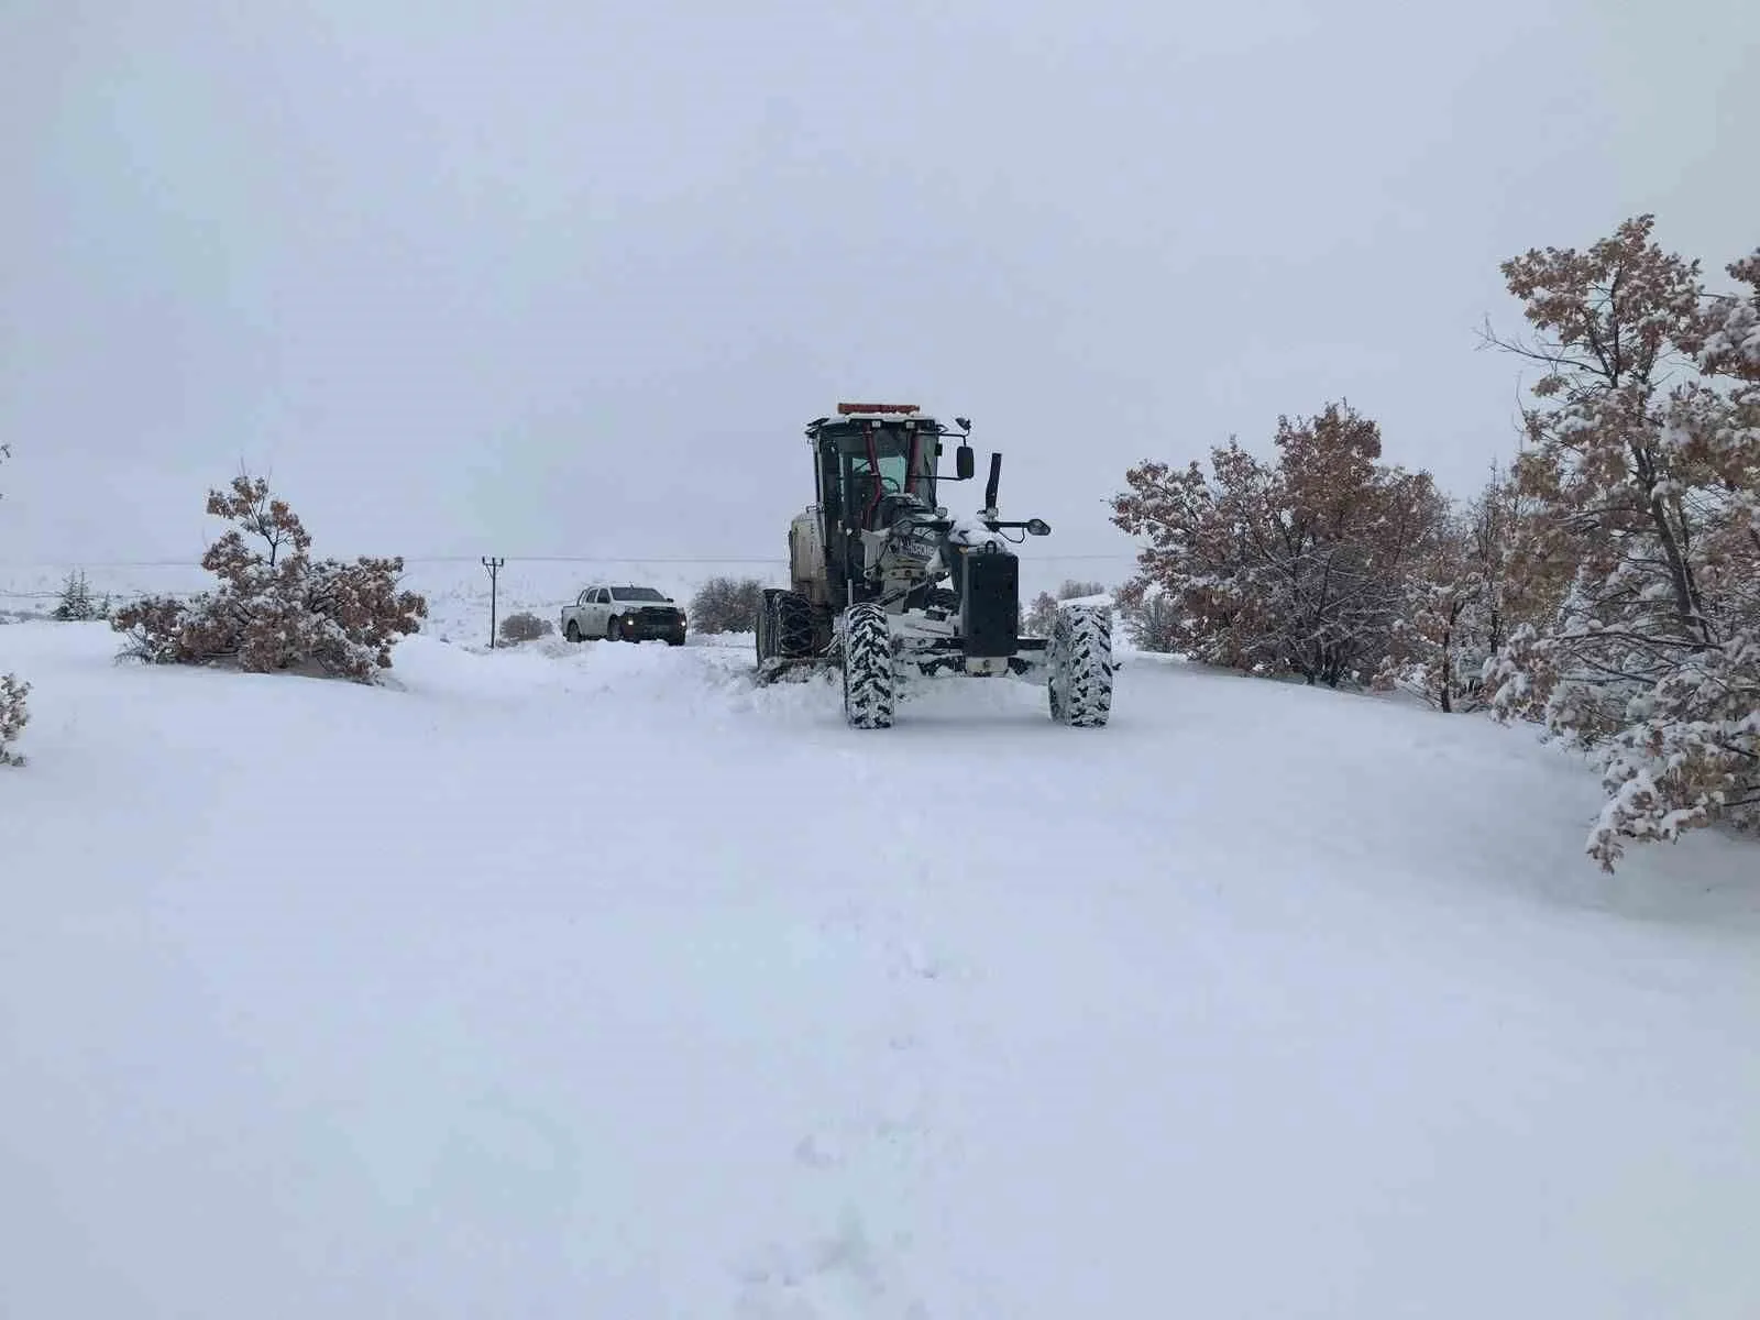
<path fill-rule="evenodd" d="M 943 482 L 975 477 L 972 422 L 949 426 L 912 403 L 840 403 L 806 426 L 813 502 L 788 524 L 787 588 L 759 602 L 759 681 L 840 669 L 855 729 L 889 729 L 910 674 L 1042 681 L 1051 718 L 1095 729 L 1112 708 L 1112 614 L 1063 604 L 1049 637 L 1021 632 L 1014 546 L 1051 535 L 1044 519 L 996 509 L 1001 454 L 984 507 L 949 514 Z M 954 472 L 940 470 L 954 445 Z"/>

